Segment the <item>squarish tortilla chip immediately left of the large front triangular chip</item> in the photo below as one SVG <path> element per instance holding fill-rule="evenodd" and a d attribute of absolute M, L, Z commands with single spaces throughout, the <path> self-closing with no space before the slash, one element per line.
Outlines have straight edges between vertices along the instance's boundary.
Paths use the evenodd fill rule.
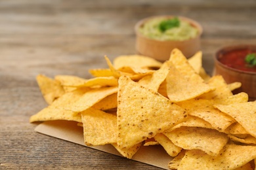
<path fill-rule="evenodd" d="M 83 137 L 88 146 L 116 143 L 116 116 L 89 108 L 81 112 Z"/>

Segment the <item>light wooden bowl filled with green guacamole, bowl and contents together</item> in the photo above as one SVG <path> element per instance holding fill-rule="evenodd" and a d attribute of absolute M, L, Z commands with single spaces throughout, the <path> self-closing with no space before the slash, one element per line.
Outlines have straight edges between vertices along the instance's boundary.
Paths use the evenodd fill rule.
<path fill-rule="evenodd" d="M 160 61 L 169 59 L 174 48 L 179 48 L 187 58 L 200 50 L 202 27 L 183 16 L 145 18 L 135 25 L 135 32 L 137 52 Z"/>

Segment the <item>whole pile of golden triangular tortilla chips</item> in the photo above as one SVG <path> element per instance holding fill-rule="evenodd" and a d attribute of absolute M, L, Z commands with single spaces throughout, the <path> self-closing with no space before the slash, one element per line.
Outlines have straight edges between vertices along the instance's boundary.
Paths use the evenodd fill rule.
<path fill-rule="evenodd" d="M 72 120 L 88 146 L 112 144 L 126 158 L 140 146 L 161 144 L 169 169 L 254 169 L 256 101 L 241 84 L 226 84 L 202 67 L 202 52 L 186 59 L 175 49 L 160 63 L 119 56 L 93 78 L 37 76 L 48 107 L 30 122 Z"/>

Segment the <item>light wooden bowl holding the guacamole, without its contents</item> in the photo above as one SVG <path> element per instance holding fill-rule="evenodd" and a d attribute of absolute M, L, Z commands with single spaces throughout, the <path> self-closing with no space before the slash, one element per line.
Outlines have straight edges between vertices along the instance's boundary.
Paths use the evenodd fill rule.
<path fill-rule="evenodd" d="M 188 39 L 185 41 L 158 41 L 142 35 L 142 33 L 140 33 L 139 31 L 139 28 L 142 27 L 143 24 L 148 20 L 152 20 L 153 18 L 173 17 L 175 16 L 153 16 L 145 18 L 144 20 L 140 20 L 135 25 L 135 32 L 137 35 L 136 49 L 139 54 L 152 57 L 154 59 L 157 59 L 158 61 L 165 61 L 169 59 L 171 50 L 173 50 L 174 48 L 178 48 L 179 50 L 181 50 L 186 58 L 190 58 L 200 50 L 200 36 L 202 35 L 202 27 L 200 24 L 198 24 L 198 22 L 189 18 L 178 16 L 180 20 L 184 20 L 190 23 L 193 27 L 196 27 L 196 29 L 198 29 L 198 35 L 192 39 Z"/>

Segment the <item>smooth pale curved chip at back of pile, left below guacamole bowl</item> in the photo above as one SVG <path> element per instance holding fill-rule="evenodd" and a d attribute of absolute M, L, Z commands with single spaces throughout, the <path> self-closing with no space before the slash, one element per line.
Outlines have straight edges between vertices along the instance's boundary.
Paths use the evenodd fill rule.
<path fill-rule="evenodd" d="M 113 65 L 116 69 L 122 67 L 139 67 L 146 69 L 148 67 L 161 67 L 161 62 L 147 56 L 129 55 L 118 56 L 114 59 Z"/>

